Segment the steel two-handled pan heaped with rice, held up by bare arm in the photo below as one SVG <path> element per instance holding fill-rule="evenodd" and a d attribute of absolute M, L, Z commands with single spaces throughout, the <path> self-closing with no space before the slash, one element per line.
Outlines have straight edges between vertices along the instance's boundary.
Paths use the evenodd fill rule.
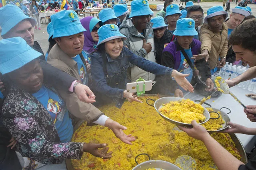
<path fill-rule="evenodd" d="M 163 107 L 163 104 L 166 104 L 166 103 L 169 103 L 170 101 L 179 101 L 179 100 L 183 100 L 184 98 L 181 98 L 181 97 L 162 97 L 160 99 L 157 99 L 157 101 L 155 101 L 155 104 L 154 104 L 154 107 L 155 107 L 155 110 L 157 111 L 157 113 L 159 113 L 159 115 L 165 119 L 166 121 L 170 122 L 170 123 L 173 123 L 175 125 L 178 125 L 178 126 L 184 126 L 184 127 L 192 127 L 192 125 L 190 123 L 182 123 L 182 122 L 178 122 L 178 121 L 174 121 L 172 119 L 169 119 L 167 117 L 165 117 L 163 114 L 161 114 L 159 112 L 159 109 L 161 109 L 161 107 Z M 147 99 L 148 101 L 149 99 Z M 152 99 L 151 99 L 152 100 Z M 154 101 L 154 100 L 153 100 Z M 193 101 L 194 102 L 194 101 Z M 196 102 L 194 102 L 196 103 Z M 147 102 L 147 104 L 149 104 Z M 198 103 L 196 103 L 198 104 Z M 149 104 L 150 105 L 150 104 Z M 153 106 L 153 105 L 151 105 Z M 206 120 L 202 123 L 199 123 L 199 124 L 204 124 L 206 123 L 207 121 L 209 121 L 210 119 L 210 113 L 208 112 L 208 110 L 204 107 L 204 116 L 206 117 Z M 213 119 L 213 118 L 212 118 Z M 218 118 L 217 118 L 218 119 Z"/>

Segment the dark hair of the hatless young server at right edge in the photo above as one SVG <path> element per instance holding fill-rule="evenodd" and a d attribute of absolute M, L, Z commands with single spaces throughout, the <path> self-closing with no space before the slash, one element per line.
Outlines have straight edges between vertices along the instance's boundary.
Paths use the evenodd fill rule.
<path fill-rule="evenodd" d="M 241 45 L 242 48 L 256 53 L 256 19 L 246 20 L 240 24 L 229 36 L 230 45 Z"/>

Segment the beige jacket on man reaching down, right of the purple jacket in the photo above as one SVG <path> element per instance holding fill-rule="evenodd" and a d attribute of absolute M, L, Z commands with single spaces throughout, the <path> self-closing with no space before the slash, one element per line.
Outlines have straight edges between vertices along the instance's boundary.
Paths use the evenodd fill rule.
<path fill-rule="evenodd" d="M 226 57 L 228 53 L 228 26 L 223 23 L 222 30 L 213 32 L 208 24 L 204 23 L 200 30 L 201 51 L 207 49 L 211 69 L 217 66 L 219 57 Z"/>

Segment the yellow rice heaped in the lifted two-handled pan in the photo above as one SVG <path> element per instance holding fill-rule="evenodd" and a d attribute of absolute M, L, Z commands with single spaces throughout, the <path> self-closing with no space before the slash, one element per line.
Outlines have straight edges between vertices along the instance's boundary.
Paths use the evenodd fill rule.
<path fill-rule="evenodd" d="M 191 123 L 193 120 L 200 123 L 206 120 L 204 108 L 189 99 L 163 104 L 159 112 L 169 119 L 182 123 Z"/>

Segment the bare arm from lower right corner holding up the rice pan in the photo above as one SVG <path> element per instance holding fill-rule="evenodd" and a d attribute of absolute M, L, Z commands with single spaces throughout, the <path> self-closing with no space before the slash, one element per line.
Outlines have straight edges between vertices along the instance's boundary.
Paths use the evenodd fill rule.
<path fill-rule="evenodd" d="M 243 162 L 234 157 L 230 152 L 223 148 L 210 134 L 206 128 L 192 121 L 193 128 L 180 127 L 181 130 L 186 132 L 189 136 L 201 140 L 206 145 L 206 148 L 214 163 L 219 170 L 238 170 L 240 165 L 244 165 Z"/>

